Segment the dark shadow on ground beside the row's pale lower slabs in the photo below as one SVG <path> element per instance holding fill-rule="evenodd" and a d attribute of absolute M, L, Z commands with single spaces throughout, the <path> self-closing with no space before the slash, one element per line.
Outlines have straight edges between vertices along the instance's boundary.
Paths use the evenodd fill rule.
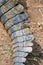
<path fill-rule="evenodd" d="M 33 52 L 29 53 L 26 57 L 27 60 L 25 65 L 40 65 L 43 60 L 43 50 L 41 49 L 41 46 L 35 41 L 33 41 L 33 43 Z"/>

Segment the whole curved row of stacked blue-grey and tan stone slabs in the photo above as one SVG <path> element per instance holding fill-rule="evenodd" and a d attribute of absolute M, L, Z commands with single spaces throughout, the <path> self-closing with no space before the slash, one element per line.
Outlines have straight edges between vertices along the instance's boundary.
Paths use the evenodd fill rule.
<path fill-rule="evenodd" d="M 27 26 L 28 14 L 21 4 L 10 0 L 0 0 L 0 17 L 12 42 L 14 42 L 14 65 L 25 65 L 26 56 L 33 51 L 34 35 Z"/>

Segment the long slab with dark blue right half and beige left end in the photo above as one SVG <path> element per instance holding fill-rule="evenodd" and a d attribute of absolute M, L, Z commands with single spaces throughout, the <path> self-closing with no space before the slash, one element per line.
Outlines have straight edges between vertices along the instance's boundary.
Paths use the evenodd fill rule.
<path fill-rule="evenodd" d="M 18 24 L 20 22 L 23 22 L 24 20 L 28 19 L 28 16 L 27 16 L 27 13 L 22 13 L 22 14 L 19 14 L 13 18 L 11 18 L 10 20 L 8 20 L 5 24 L 5 27 L 11 27 L 12 25 L 14 24 Z M 2 19 L 2 21 L 4 20 L 4 18 Z M 4 21 L 5 22 L 5 21 Z"/>

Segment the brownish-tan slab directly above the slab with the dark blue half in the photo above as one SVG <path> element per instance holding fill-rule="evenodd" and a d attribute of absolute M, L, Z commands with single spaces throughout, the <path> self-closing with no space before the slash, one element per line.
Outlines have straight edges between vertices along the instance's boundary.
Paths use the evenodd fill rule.
<path fill-rule="evenodd" d="M 1 17 L 1 20 L 7 21 L 23 11 L 24 11 L 24 7 L 21 4 L 19 4 L 19 5 L 15 6 L 14 8 L 12 8 L 11 10 L 9 10 L 7 13 L 5 13 Z M 5 19 L 4 19 L 4 17 L 5 17 Z"/>

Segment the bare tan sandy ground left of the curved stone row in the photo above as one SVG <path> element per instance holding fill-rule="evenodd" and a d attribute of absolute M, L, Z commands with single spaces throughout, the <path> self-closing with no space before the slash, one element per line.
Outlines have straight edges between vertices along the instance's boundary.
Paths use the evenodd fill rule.
<path fill-rule="evenodd" d="M 2 23 L 0 23 L 0 65 L 13 65 L 12 57 L 9 52 L 5 52 L 8 46 L 12 46 L 11 39 L 3 27 Z"/>

